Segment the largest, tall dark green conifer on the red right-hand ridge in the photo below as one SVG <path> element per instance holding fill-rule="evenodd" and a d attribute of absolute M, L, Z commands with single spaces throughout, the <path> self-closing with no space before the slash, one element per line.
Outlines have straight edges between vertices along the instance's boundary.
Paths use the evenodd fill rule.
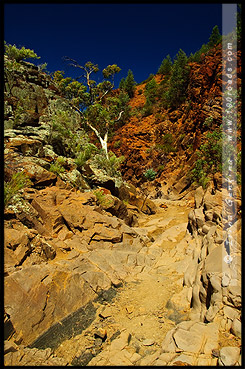
<path fill-rule="evenodd" d="M 187 61 L 185 52 L 180 49 L 174 61 L 169 89 L 164 96 L 166 105 L 170 108 L 177 108 L 185 101 L 185 92 L 190 71 Z"/>

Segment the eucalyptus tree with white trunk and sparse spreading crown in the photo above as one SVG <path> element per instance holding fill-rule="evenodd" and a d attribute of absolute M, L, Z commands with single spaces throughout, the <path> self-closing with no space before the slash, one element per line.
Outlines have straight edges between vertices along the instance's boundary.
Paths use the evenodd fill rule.
<path fill-rule="evenodd" d="M 108 134 L 124 113 L 124 110 L 120 110 L 122 104 L 119 99 L 111 94 L 115 75 L 121 69 L 116 64 L 108 65 L 102 70 L 102 82 L 97 83 L 92 79 L 99 71 L 97 64 L 89 61 L 85 65 L 80 65 L 68 57 L 65 60 L 70 66 L 81 70 L 82 74 L 74 80 L 64 78 L 64 72 L 56 71 L 54 81 L 64 96 L 70 100 L 72 107 L 79 112 L 82 123 L 95 133 L 108 159 Z"/>

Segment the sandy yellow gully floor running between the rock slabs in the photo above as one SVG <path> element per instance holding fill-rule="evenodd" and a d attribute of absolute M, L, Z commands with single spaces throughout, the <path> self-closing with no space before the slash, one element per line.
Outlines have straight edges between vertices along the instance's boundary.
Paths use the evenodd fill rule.
<path fill-rule="evenodd" d="M 157 263 L 152 267 L 145 266 L 137 277 L 127 278 L 110 302 L 97 303 L 93 323 L 80 335 L 64 341 L 56 350 L 57 356 L 78 364 L 96 353 L 97 343 L 97 351 L 101 350 L 101 353 L 92 359 L 91 365 L 136 362 L 138 365 L 139 360 L 143 360 L 140 365 L 144 365 L 149 355 L 161 349 L 167 331 L 176 322 L 187 319 L 187 310 L 179 312 L 168 301 L 182 289 L 183 273 L 179 271 L 179 262 L 184 258 L 183 251 L 188 245 L 186 227 L 190 207 L 185 200 L 165 200 L 164 208 L 159 206 L 163 204 L 162 200 L 154 202 L 158 205 L 156 214 L 142 214 L 135 230 L 151 239 L 147 245 L 149 248 L 162 249 Z M 116 341 L 110 339 L 121 333 L 130 339 L 123 351 L 121 347 L 113 349 Z M 86 354 L 84 347 L 87 347 Z M 122 354 L 126 355 L 125 359 Z M 133 355 L 133 362 L 130 355 Z"/>

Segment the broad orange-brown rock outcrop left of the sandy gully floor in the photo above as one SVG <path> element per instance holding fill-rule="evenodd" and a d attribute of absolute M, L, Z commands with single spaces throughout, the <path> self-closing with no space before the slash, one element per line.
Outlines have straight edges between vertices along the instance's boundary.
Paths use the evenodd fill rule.
<path fill-rule="evenodd" d="M 5 277 L 5 310 L 27 345 L 101 291 L 120 285 L 137 266 L 131 258 L 144 247 L 136 231 L 106 213 L 92 193 L 50 187 L 32 193 L 29 203 L 45 232 L 33 229 L 29 255 L 18 269 L 6 265 Z M 18 233 L 16 240 L 12 231 Z M 24 225 L 19 231 L 6 228 L 5 247 L 11 246 L 12 253 L 18 242 L 28 247 L 25 232 L 30 234 Z M 37 237 L 55 250 L 52 260 L 31 258 Z"/>

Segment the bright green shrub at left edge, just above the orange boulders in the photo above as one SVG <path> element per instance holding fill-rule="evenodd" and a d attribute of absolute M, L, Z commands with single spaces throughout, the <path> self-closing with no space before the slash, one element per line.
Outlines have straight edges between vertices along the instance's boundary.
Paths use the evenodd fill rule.
<path fill-rule="evenodd" d="M 23 171 L 14 173 L 10 181 L 4 181 L 4 206 L 13 202 L 19 191 L 29 186 L 31 186 L 31 181 Z"/>

